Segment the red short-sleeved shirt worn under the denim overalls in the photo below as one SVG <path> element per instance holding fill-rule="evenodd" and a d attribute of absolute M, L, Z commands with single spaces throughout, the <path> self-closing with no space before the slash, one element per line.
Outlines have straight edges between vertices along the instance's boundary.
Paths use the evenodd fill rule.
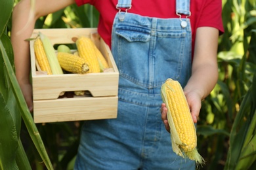
<path fill-rule="evenodd" d="M 75 0 L 77 5 L 90 3 L 100 12 L 98 33 L 106 44 L 111 44 L 112 24 L 118 10 L 117 0 Z M 180 1 L 180 0 L 178 0 Z M 157 18 L 179 18 L 175 11 L 175 0 L 133 0 L 128 12 Z M 192 49 L 198 27 L 215 27 L 223 33 L 221 0 L 190 0 L 190 22 L 192 27 Z M 185 16 L 182 16 L 184 18 Z"/>

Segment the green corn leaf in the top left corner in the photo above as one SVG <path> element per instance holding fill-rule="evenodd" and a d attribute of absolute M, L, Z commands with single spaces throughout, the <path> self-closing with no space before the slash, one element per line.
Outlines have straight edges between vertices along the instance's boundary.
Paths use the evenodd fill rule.
<path fill-rule="evenodd" d="M 3 31 L 5 30 L 5 27 L 8 23 L 8 20 L 12 13 L 12 7 L 13 7 L 13 1 L 0 1 L 0 37 L 3 34 Z"/>

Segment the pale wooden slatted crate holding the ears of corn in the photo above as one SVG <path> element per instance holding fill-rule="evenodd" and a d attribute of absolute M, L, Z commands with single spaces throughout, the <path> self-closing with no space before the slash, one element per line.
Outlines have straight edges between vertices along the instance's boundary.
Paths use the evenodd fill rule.
<path fill-rule="evenodd" d="M 30 41 L 33 86 L 33 118 L 35 123 L 96 120 L 117 117 L 117 92 L 119 72 L 106 43 L 95 28 L 34 29 L 32 38 L 39 31 L 54 44 L 72 44 L 81 35 L 91 37 L 113 69 L 108 73 L 42 75 L 36 67 L 33 40 Z M 62 92 L 85 90 L 91 95 L 62 97 Z"/>

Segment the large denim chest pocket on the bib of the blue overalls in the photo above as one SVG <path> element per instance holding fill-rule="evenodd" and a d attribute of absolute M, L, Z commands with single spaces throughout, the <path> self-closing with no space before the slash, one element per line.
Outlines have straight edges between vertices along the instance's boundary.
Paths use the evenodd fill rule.
<path fill-rule="evenodd" d="M 114 56 L 121 77 L 144 88 L 179 80 L 186 55 L 186 31 L 180 27 L 117 24 Z M 164 70 L 164 71 L 163 71 Z"/>

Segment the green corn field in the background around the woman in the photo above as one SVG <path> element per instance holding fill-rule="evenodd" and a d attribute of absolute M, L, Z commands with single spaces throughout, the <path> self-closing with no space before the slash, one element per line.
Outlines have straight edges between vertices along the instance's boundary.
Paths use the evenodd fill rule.
<path fill-rule="evenodd" d="M 0 1 L 0 169 L 72 169 L 83 122 L 34 124 L 15 77 L 11 15 Z M 39 18 L 35 28 L 96 27 L 90 5 Z M 223 0 L 219 81 L 202 102 L 198 169 L 256 169 L 256 1 Z"/>

